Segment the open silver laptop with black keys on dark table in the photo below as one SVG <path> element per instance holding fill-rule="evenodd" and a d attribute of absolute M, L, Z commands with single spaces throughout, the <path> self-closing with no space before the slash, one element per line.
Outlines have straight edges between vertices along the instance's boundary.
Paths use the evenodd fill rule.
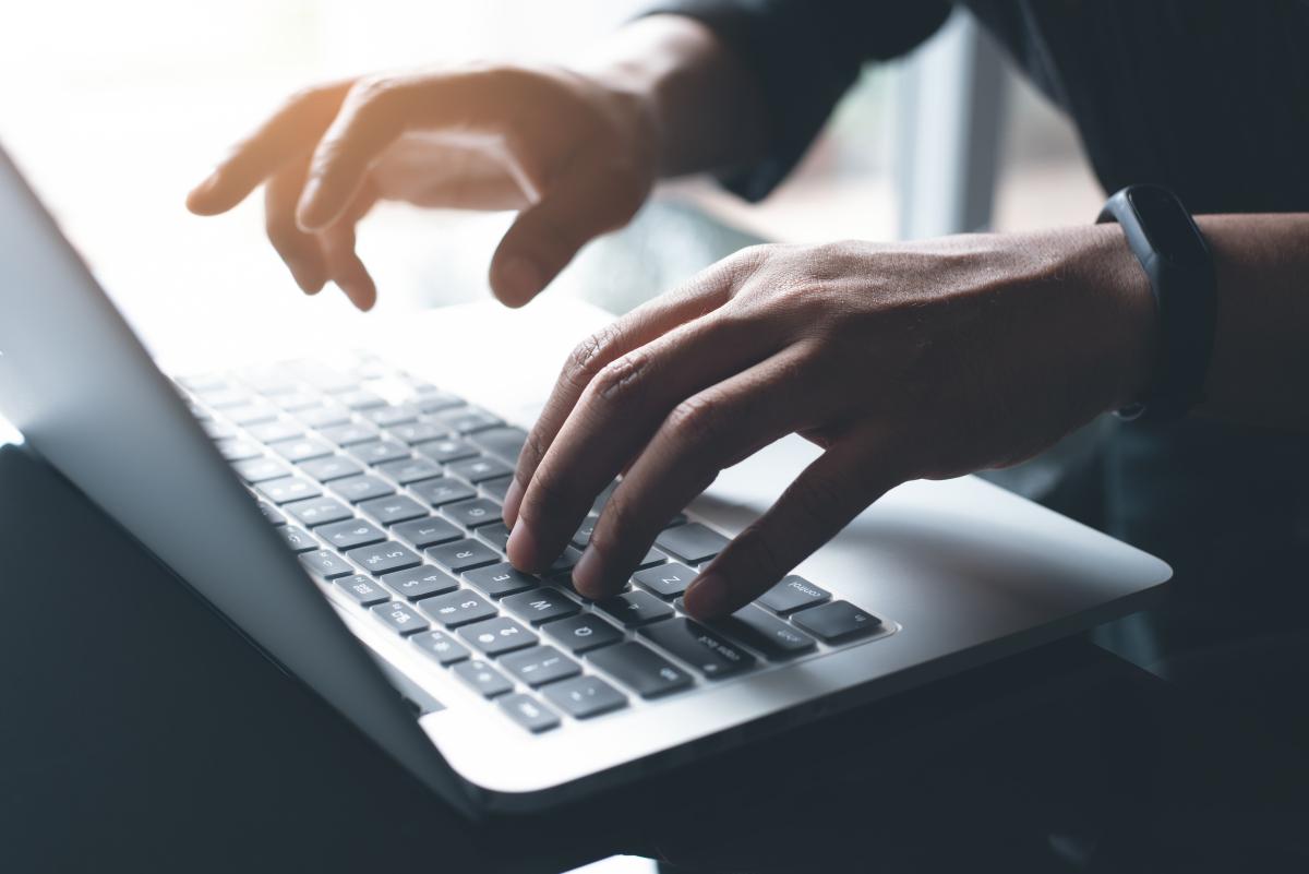
<path fill-rule="evenodd" d="M 814 458 L 798 437 L 724 471 L 615 598 L 571 589 L 594 514 L 550 572 L 524 574 L 500 521 L 524 427 L 564 351 L 609 318 L 550 297 L 441 307 L 348 353 L 165 376 L 0 153 L 0 412 L 470 815 L 798 731 L 1121 618 L 1170 576 L 965 476 L 891 491 L 757 602 L 695 623 L 681 593 Z M 486 355 L 492 338 L 512 366 Z"/>

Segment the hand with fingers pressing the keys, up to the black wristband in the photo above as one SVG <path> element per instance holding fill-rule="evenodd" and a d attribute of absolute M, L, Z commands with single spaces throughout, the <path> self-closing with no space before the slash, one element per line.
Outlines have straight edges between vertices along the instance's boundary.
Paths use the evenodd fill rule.
<path fill-rule="evenodd" d="M 1016 463 L 1148 385 L 1153 301 L 1117 226 L 759 246 L 577 347 L 505 496 L 547 567 L 626 471 L 573 584 L 620 589 L 719 471 L 797 432 L 825 449 L 686 593 L 741 607 L 889 488 Z"/>

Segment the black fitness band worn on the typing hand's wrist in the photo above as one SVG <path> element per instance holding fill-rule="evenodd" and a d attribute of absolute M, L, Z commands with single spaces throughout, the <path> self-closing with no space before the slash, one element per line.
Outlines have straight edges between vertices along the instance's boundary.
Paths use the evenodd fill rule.
<path fill-rule="evenodd" d="M 1204 399 L 1217 289 L 1213 256 L 1191 213 L 1162 186 L 1134 184 L 1111 196 L 1097 224 L 1117 221 L 1149 277 L 1158 309 L 1158 358 L 1147 396 L 1121 419 L 1181 419 Z"/>

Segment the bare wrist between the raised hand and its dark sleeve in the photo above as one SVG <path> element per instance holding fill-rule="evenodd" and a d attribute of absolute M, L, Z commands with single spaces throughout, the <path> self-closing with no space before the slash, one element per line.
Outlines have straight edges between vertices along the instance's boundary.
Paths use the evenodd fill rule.
<path fill-rule="evenodd" d="M 664 177 L 740 166 L 764 149 L 758 82 L 712 30 L 692 18 L 639 18 L 598 46 L 579 69 L 645 103 Z"/>

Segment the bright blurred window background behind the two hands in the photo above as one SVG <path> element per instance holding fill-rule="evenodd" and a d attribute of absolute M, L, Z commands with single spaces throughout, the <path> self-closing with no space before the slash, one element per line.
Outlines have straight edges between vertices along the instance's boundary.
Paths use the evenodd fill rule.
<path fill-rule="evenodd" d="M 567 59 L 634 0 L 45 0 L 0 30 L 0 141 L 154 344 L 232 326 L 348 324 L 300 298 L 263 243 L 258 198 L 217 220 L 186 191 L 292 90 L 470 56 Z M 869 68 L 767 201 L 668 186 L 559 293 L 613 310 L 754 238 L 889 239 L 1086 221 L 1101 194 L 1067 123 L 957 14 L 914 56 Z M 706 218 L 708 216 L 709 218 Z M 363 228 L 381 311 L 471 300 L 508 216 L 380 209 Z M 611 250 L 606 253 L 606 249 Z"/>

